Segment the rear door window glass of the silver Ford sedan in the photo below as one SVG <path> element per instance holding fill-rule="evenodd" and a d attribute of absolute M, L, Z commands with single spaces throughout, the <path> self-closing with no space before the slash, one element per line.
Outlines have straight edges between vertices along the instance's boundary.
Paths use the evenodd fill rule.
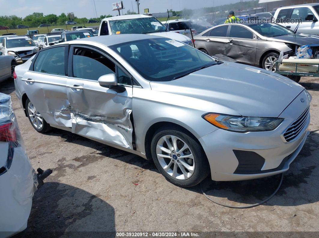
<path fill-rule="evenodd" d="M 65 75 L 64 49 L 65 47 L 62 46 L 40 51 L 34 62 L 34 71 L 55 75 Z"/>

